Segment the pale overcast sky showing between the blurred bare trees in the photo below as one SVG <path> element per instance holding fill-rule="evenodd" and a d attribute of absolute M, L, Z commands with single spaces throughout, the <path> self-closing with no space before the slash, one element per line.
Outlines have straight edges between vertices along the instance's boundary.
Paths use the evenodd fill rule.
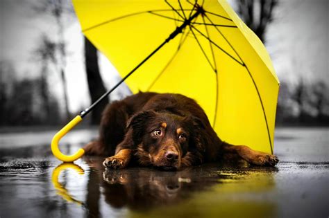
<path fill-rule="evenodd" d="M 40 64 L 33 59 L 33 51 L 42 33 L 56 36 L 53 17 L 32 9 L 32 3 L 37 1 L 0 0 L 0 60 L 12 62 L 19 78 L 40 75 Z M 323 80 L 329 84 L 328 11 L 327 0 L 279 0 L 274 21 L 267 31 L 266 46 L 280 80 L 294 83 L 302 76 L 310 82 Z M 81 30 L 74 15 L 66 19 L 69 107 L 76 111 L 89 106 L 90 100 Z M 105 57 L 101 57 L 100 65 L 109 88 L 118 75 Z M 51 73 L 50 80 L 51 88 L 60 96 L 58 73 Z"/>

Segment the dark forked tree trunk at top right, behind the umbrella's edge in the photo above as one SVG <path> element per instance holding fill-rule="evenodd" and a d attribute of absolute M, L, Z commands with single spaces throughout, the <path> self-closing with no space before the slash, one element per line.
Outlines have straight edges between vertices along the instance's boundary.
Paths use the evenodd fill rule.
<path fill-rule="evenodd" d="M 264 34 L 273 21 L 273 9 L 277 5 L 278 0 L 237 0 L 239 15 L 262 42 L 265 42 Z"/>

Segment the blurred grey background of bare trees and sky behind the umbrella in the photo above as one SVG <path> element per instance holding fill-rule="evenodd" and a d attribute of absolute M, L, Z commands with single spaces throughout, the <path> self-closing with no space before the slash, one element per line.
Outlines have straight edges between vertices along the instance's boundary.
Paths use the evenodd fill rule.
<path fill-rule="evenodd" d="M 327 0 L 231 0 L 280 79 L 276 125 L 329 125 Z M 65 124 L 119 80 L 71 1 L 0 0 L 0 131 Z M 108 102 L 130 95 L 121 85 Z M 104 105 L 83 125 L 99 123 Z"/>

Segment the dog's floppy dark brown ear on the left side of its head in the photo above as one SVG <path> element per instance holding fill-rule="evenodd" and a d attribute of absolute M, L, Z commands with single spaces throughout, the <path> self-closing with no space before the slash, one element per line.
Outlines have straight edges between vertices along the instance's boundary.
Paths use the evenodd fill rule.
<path fill-rule="evenodd" d="M 127 129 L 133 129 L 133 139 L 140 140 L 146 124 L 153 120 L 157 113 L 153 110 L 140 111 L 135 113 L 127 122 Z"/>

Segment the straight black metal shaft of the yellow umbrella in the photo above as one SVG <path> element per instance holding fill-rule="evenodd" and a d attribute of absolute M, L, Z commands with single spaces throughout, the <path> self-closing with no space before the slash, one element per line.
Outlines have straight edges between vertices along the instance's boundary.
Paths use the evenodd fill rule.
<path fill-rule="evenodd" d="M 160 44 L 160 46 L 158 46 L 158 48 L 155 48 L 155 50 L 151 54 L 149 54 L 142 62 L 140 62 L 140 64 L 138 64 L 137 66 L 135 66 L 135 68 L 132 71 L 130 71 L 124 78 L 122 78 L 114 87 L 112 87 L 112 89 L 110 89 L 109 91 L 107 91 L 106 93 L 104 93 L 103 96 L 101 96 L 98 100 L 96 100 L 96 102 L 94 102 L 90 107 L 88 107 L 84 111 L 81 111 L 80 112 L 81 118 L 83 118 L 84 116 L 87 115 L 87 113 L 89 113 L 90 111 L 92 111 L 92 109 L 94 109 L 94 107 L 96 107 L 96 105 L 98 105 L 99 102 L 101 102 L 101 100 L 103 100 L 110 93 L 112 93 L 112 91 L 115 91 L 115 89 L 117 89 L 117 87 L 119 87 L 119 85 L 122 82 L 124 82 L 137 69 L 139 69 L 140 66 L 142 66 L 142 64 L 144 64 L 147 60 L 149 60 L 149 58 L 152 57 L 160 48 L 162 48 L 162 46 L 164 46 L 165 44 L 167 44 L 167 42 L 169 42 L 171 39 L 174 39 L 174 37 L 176 37 L 176 35 L 178 35 L 179 33 L 182 33 L 183 29 L 187 25 L 189 25 L 191 23 L 191 21 L 194 18 L 196 18 L 198 15 L 200 15 L 202 12 L 203 12 L 203 9 L 201 7 L 197 8 L 197 10 L 194 13 L 194 15 L 192 15 L 191 17 L 189 17 L 189 19 L 186 19 L 182 25 L 178 26 L 176 28 L 176 30 L 174 30 L 174 32 L 169 35 L 169 37 L 165 40 L 165 42 L 162 42 L 162 44 Z"/>

